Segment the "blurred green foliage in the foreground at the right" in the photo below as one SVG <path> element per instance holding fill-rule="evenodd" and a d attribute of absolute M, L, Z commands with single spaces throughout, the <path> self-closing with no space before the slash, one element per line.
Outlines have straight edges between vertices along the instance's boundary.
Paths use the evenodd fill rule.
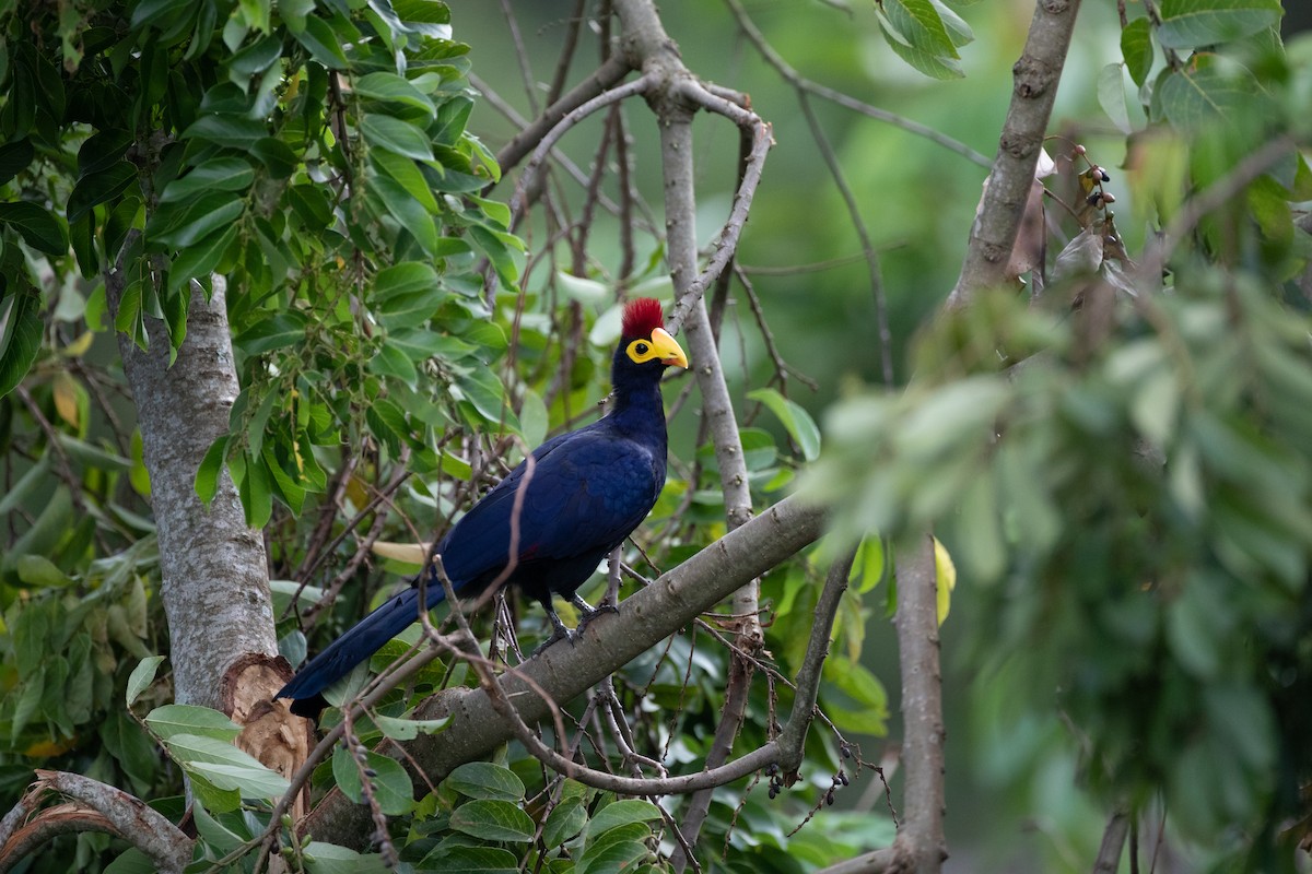
<path fill-rule="evenodd" d="M 905 392 L 829 410 L 813 485 L 853 529 L 937 525 L 981 587 L 976 706 L 1010 738 L 1005 781 L 1076 750 L 1109 805 L 1286 870 L 1312 778 L 1312 68 L 1277 4 L 1211 5 L 1124 26 L 1099 94 L 1123 170 L 1050 142 L 1072 204 L 1048 207 L 1072 235 L 1051 284 L 943 316 Z M 1131 221 L 1161 232 L 1134 257 Z"/>

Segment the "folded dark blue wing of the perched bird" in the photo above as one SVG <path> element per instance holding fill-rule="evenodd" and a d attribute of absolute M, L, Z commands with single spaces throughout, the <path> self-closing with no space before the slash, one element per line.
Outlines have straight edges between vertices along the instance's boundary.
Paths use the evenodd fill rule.
<path fill-rule="evenodd" d="M 618 544 L 656 503 L 663 461 L 642 444 L 600 428 L 564 434 L 539 447 L 518 519 L 520 560 L 569 558 Z M 521 464 L 442 540 L 438 552 L 453 582 L 505 565 L 514 497 L 525 478 Z"/>

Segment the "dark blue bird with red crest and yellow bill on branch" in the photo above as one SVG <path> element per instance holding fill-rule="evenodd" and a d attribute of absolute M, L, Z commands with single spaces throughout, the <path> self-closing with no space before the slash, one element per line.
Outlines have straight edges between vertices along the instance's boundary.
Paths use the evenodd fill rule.
<path fill-rule="evenodd" d="M 517 584 L 547 611 L 554 628 L 548 643 L 569 636 L 552 595 L 573 603 L 584 621 L 596 615 L 576 590 L 647 518 L 665 485 L 660 377 L 670 364 L 686 368 L 687 358 L 663 325 L 659 301 L 628 303 L 611 363 L 610 413 L 534 449 L 531 472 L 521 463 L 437 545 L 457 594 L 480 594 L 497 579 Z M 446 599 L 436 575 L 424 588 L 425 609 Z M 276 697 L 293 698 L 293 713 L 318 714 L 323 691 L 417 621 L 419 611 L 416 579 L 302 667 Z"/>

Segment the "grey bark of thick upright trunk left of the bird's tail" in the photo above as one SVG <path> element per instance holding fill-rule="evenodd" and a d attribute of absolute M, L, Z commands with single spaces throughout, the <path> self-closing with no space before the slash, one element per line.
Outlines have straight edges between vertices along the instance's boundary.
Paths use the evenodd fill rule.
<path fill-rule="evenodd" d="M 108 290 L 117 313 L 121 273 L 109 274 Z M 186 339 L 172 364 L 157 320 L 147 318 L 147 351 L 118 335 L 151 476 L 174 700 L 215 709 L 237 658 L 278 654 L 264 539 L 247 525 L 227 470 L 209 507 L 194 487 L 205 452 L 228 430 L 239 390 L 224 292 L 216 278 L 209 301 L 193 294 Z"/>

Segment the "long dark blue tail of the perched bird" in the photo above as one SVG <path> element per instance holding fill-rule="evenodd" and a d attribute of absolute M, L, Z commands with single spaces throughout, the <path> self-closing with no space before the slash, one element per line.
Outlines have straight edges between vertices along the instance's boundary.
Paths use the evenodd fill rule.
<path fill-rule="evenodd" d="M 440 586 L 428 586 L 428 605 L 446 600 Z M 400 634 L 411 622 L 419 621 L 419 588 L 407 588 L 373 613 L 359 620 L 323 653 L 310 659 L 291 683 L 282 687 L 274 698 L 293 698 L 291 712 L 315 717 L 325 706 L 323 691 L 350 674 L 352 668 L 382 649 L 383 643 Z"/>

